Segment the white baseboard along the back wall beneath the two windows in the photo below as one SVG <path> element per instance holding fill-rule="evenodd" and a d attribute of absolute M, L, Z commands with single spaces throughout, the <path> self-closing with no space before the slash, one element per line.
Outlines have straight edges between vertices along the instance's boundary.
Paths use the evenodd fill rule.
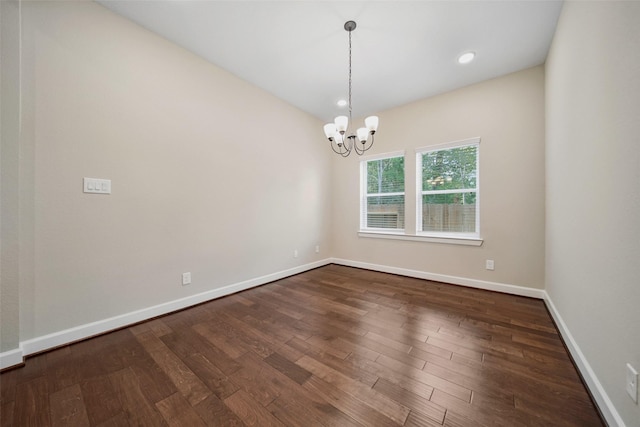
<path fill-rule="evenodd" d="M 436 282 L 451 283 L 454 285 L 468 286 L 470 288 L 484 289 L 487 291 L 503 292 L 511 295 L 544 299 L 542 289 L 527 288 L 505 283 L 488 282 L 485 280 L 468 279 L 466 277 L 448 276 L 446 274 L 429 273 L 427 271 L 409 270 L 406 268 L 392 267 L 388 265 L 369 264 L 360 261 L 331 258 L 331 263 L 345 265 L 348 267 L 364 268 L 366 270 L 380 271 L 383 273 L 398 274 L 400 276 L 415 277 L 417 279 L 433 280 Z"/>

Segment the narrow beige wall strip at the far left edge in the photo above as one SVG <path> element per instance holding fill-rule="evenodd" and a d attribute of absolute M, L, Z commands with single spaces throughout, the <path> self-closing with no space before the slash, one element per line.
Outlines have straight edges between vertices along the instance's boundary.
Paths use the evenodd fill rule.
<path fill-rule="evenodd" d="M 20 15 L 17 1 L 0 2 L 0 353 L 18 347 Z"/>

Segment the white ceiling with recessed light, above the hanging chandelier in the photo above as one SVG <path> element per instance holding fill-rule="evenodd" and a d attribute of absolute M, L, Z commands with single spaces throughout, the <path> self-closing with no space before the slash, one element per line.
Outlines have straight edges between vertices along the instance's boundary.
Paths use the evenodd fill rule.
<path fill-rule="evenodd" d="M 312 115 L 365 116 L 544 63 L 559 0 L 97 0 Z M 457 56 L 475 51 L 459 65 Z"/>

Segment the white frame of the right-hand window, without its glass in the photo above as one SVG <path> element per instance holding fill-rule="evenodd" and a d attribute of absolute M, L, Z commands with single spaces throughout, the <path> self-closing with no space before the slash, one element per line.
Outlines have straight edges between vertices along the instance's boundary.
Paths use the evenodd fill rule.
<path fill-rule="evenodd" d="M 425 147 L 416 148 L 416 236 L 433 238 L 433 239 L 468 239 L 478 240 L 480 239 L 480 141 L 479 137 L 464 139 L 460 141 L 452 141 L 444 144 L 436 144 Z M 475 210 L 475 232 L 455 232 L 455 231 L 424 231 L 422 229 L 422 211 L 423 204 L 422 198 L 428 194 L 446 194 L 446 193 L 460 193 L 459 190 L 424 190 L 422 187 L 422 159 L 423 155 L 436 151 L 450 150 L 453 148 L 461 148 L 475 146 L 476 147 L 476 210 Z M 463 192 L 471 192 L 469 189 L 460 189 Z M 446 241 L 446 240 L 445 240 Z"/>

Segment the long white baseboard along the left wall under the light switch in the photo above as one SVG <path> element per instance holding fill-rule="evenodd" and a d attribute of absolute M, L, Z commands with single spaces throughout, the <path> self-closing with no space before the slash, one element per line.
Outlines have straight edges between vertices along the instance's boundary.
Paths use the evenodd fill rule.
<path fill-rule="evenodd" d="M 19 349 L 10 350 L 0 353 L 0 369 L 9 368 L 23 363 L 23 358 L 30 354 L 39 353 L 55 347 L 66 345 L 75 341 L 90 338 L 105 332 L 113 331 L 134 323 L 152 319 L 163 314 L 182 310 L 196 304 L 207 302 L 216 298 L 230 295 L 236 292 L 244 291 L 265 283 L 283 279 L 294 274 L 299 274 L 314 268 L 322 267 L 330 263 L 329 259 L 324 259 L 288 270 L 279 271 L 268 274 L 266 276 L 257 277 L 255 279 L 245 280 L 243 282 L 234 283 L 222 288 L 212 289 L 196 295 L 169 301 L 152 307 L 143 308 L 141 310 L 132 311 L 119 316 L 108 319 L 99 320 L 75 328 L 66 329 L 30 340 L 22 341 Z"/>

